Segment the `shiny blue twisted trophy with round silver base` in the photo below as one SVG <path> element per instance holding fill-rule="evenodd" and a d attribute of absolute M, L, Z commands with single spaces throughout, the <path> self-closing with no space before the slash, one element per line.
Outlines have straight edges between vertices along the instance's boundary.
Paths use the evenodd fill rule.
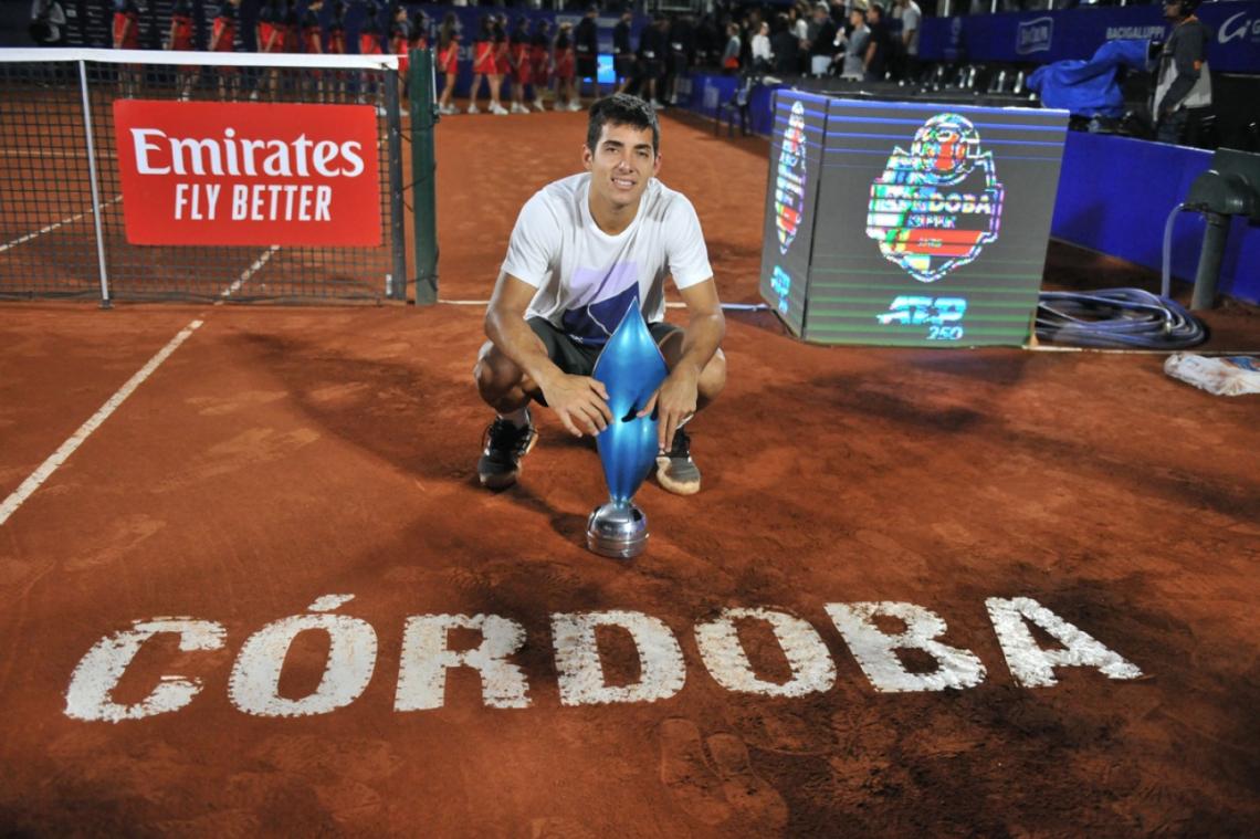
<path fill-rule="evenodd" d="M 612 422 L 595 438 L 610 500 L 586 522 L 586 547 L 629 559 L 648 545 L 648 517 L 630 499 L 656 462 L 655 416 L 638 417 L 669 369 L 639 306 L 631 306 L 595 362 L 592 377 L 609 392 Z"/>

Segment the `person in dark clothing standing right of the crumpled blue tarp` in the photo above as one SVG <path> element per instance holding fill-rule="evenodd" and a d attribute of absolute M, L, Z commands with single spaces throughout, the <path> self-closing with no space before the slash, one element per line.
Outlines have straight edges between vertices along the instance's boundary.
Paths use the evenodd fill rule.
<path fill-rule="evenodd" d="M 1212 33 L 1194 10 L 1197 0 L 1164 0 L 1164 18 L 1173 24 L 1155 74 L 1153 115 L 1155 139 L 1179 144 L 1192 113 L 1212 106 L 1212 77 L 1207 67 L 1207 44 Z"/>

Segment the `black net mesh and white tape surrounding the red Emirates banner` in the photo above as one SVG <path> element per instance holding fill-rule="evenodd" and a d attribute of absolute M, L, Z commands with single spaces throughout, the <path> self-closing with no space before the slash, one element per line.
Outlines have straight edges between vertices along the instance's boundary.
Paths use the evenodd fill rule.
<path fill-rule="evenodd" d="M 406 300 L 399 87 L 393 55 L 0 50 L 0 299 Z M 118 98 L 374 106 L 381 244 L 129 243 Z"/>

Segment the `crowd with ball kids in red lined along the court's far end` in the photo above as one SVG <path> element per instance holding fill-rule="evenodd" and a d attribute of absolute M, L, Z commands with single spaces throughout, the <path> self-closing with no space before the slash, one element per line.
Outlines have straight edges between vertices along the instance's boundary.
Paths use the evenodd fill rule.
<path fill-rule="evenodd" d="M 564 19 L 557 24 L 519 13 L 510 19 L 495 6 L 476 15 L 472 31 L 465 31 L 466 13 L 449 11 L 435 20 L 420 6 L 397 1 L 262 0 L 257 15 L 249 15 L 252 31 L 246 33 L 242 0 L 219 0 L 198 4 L 214 14 L 199 39 L 200 21 L 194 21 L 190 0 L 174 0 L 169 20 L 161 21 L 141 0 L 113 3 L 116 49 L 141 49 L 160 40 L 171 50 L 237 52 L 253 44 L 260 53 L 394 53 L 402 57 L 406 78 L 410 50 L 432 47 L 441 111 L 456 113 L 454 92 L 464 60 L 472 69 L 466 112 L 494 115 L 528 113 L 547 103 L 576 111 L 583 93 L 597 98 L 609 89 L 664 107 L 685 94 L 682 82 L 690 68 L 780 78 L 906 78 L 916 69 L 922 19 L 915 0 L 796 0 L 764 8 L 718 0 L 704 14 L 656 14 L 638 25 L 627 8 L 601 13 L 590 5 L 576 24 Z M 42 21 L 42 34 L 59 40 L 57 30 L 64 26 L 59 1 L 35 0 L 32 11 Z M 601 14 L 604 21 L 619 15 L 612 31 L 615 81 L 604 91 L 597 66 Z M 49 28 L 53 31 L 45 31 Z M 587 91 L 583 83 L 590 84 Z"/>

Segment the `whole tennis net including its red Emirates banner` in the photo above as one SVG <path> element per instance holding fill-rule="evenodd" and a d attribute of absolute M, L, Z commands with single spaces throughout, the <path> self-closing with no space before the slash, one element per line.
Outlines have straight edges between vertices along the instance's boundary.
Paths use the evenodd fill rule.
<path fill-rule="evenodd" d="M 0 299 L 406 300 L 399 88 L 394 55 L 0 50 Z"/>

